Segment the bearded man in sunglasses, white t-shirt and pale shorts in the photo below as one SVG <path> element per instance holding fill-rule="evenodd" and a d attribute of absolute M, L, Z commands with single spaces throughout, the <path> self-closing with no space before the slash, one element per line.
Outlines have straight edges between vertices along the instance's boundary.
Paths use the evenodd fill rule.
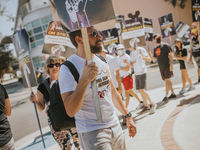
<path fill-rule="evenodd" d="M 125 150 L 125 139 L 115 114 L 114 106 L 126 117 L 129 136 L 134 137 L 136 126 L 115 89 L 109 74 L 108 64 L 103 56 L 102 36 L 95 26 L 87 29 L 93 62 L 86 64 L 81 31 L 70 33 L 70 39 L 76 47 L 76 54 L 68 58 L 79 73 L 77 83 L 69 71 L 62 65 L 59 73 L 59 86 L 67 114 L 75 116 L 79 142 L 84 150 Z M 97 121 L 91 83 L 96 80 L 99 93 L 102 122 Z"/>

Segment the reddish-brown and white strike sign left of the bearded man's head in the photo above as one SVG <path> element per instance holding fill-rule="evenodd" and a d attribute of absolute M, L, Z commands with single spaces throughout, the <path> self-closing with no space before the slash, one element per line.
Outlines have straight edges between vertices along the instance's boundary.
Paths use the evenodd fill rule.
<path fill-rule="evenodd" d="M 59 21 L 49 22 L 42 53 L 70 57 L 75 53 L 69 34 L 64 33 Z"/>

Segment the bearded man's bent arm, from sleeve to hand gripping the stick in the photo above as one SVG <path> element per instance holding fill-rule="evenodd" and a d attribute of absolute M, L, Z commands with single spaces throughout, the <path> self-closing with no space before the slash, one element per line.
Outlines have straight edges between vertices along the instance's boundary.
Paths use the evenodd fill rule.
<path fill-rule="evenodd" d="M 96 67 L 94 62 L 92 62 L 85 66 L 83 75 L 79 80 L 75 91 L 66 92 L 61 95 L 66 112 L 70 117 L 74 117 L 74 115 L 81 109 L 87 86 L 96 78 L 97 75 L 98 67 Z"/>

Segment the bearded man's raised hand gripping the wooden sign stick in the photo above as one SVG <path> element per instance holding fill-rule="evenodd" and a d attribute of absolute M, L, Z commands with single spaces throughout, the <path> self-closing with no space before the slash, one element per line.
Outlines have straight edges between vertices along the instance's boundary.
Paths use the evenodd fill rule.
<path fill-rule="evenodd" d="M 86 65 L 83 70 L 83 76 L 81 78 L 84 79 L 86 83 L 92 82 L 98 75 L 98 67 L 96 67 L 96 63 L 92 62 L 89 65 Z"/>

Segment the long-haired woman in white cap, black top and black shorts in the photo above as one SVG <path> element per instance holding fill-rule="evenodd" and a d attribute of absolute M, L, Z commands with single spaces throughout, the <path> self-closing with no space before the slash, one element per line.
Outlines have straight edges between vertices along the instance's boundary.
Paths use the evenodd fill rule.
<path fill-rule="evenodd" d="M 181 41 L 181 39 L 177 38 L 175 40 L 176 53 L 174 55 L 174 58 L 178 59 L 179 64 L 180 64 L 181 77 L 182 77 L 182 83 L 183 83 L 183 88 L 179 92 L 180 94 L 184 94 L 187 91 L 191 91 L 191 90 L 195 89 L 190 77 L 188 76 L 188 70 L 187 70 L 187 65 L 186 65 L 187 49 L 185 49 L 183 47 L 184 47 L 183 42 Z M 186 81 L 188 81 L 190 84 L 187 91 L 186 91 Z"/>

